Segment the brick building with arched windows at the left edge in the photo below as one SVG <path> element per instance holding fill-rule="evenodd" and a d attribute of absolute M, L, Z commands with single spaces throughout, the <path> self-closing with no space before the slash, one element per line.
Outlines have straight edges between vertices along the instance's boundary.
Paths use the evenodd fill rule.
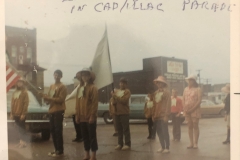
<path fill-rule="evenodd" d="M 44 88 L 45 69 L 37 64 L 36 29 L 5 26 L 5 36 L 9 62 L 33 85 L 28 84 L 28 89 L 33 92 L 41 104 L 41 99 L 34 88 Z"/>

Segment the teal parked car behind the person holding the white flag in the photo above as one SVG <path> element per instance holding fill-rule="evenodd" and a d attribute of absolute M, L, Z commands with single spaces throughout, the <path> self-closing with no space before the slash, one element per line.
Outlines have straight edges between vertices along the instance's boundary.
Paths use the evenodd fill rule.
<path fill-rule="evenodd" d="M 129 119 L 146 119 L 144 115 L 144 106 L 146 102 L 145 94 L 133 94 L 129 100 L 130 114 Z M 103 117 L 106 124 L 111 124 L 113 122 L 112 117 L 109 114 L 109 104 L 99 103 L 98 105 L 98 117 Z M 181 113 L 181 122 L 184 122 L 185 117 Z M 169 119 L 171 122 L 171 116 Z"/>

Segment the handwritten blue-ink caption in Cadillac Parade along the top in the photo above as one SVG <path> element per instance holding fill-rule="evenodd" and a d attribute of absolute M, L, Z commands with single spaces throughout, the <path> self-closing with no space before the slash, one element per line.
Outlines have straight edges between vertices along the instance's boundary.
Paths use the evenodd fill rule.
<path fill-rule="evenodd" d="M 77 0 L 62 0 L 62 2 L 77 2 Z M 183 0 L 182 5 L 179 6 L 179 9 L 182 11 L 186 10 L 209 10 L 213 12 L 217 11 L 227 11 L 232 12 L 235 4 L 227 4 L 225 2 L 208 2 L 204 0 Z M 88 4 L 73 4 L 70 9 L 70 12 L 84 11 L 86 8 L 89 8 Z M 106 11 L 119 11 L 120 13 L 123 10 L 140 10 L 140 11 L 151 11 L 156 10 L 164 12 L 164 4 L 162 2 L 141 2 L 141 0 L 124 0 L 122 2 L 111 2 L 103 3 L 99 2 L 92 6 L 92 9 L 95 12 L 106 12 Z"/>

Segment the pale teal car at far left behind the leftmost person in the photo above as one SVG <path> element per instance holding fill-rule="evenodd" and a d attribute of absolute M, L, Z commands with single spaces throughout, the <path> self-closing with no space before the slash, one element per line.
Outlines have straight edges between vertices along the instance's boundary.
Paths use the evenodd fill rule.
<path fill-rule="evenodd" d="M 14 120 L 10 119 L 11 99 L 14 90 L 11 89 L 7 93 L 7 123 L 8 128 L 14 126 Z M 29 106 L 26 115 L 26 130 L 31 133 L 41 133 L 43 140 L 50 138 L 50 125 L 48 107 L 40 106 L 32 92 L 28 91 Z"/>

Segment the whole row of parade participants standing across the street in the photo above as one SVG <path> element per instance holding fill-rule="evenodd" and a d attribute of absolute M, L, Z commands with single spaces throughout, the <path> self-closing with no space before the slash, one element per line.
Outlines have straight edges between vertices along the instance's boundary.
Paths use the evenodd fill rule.
<path fill-rule="evenodd" d="M 63 147 L 63 118 L 66 109 L 65 99 L 67 88 L 61 82 L 63 73 L 61 70 L 54 72 L 55 83 L 50 86 L 47 94 L 39 93 L 44 101 L 50 105 L 50 126 L 54 145 L 54 151 L 49 152 L 51 157 L 59 157 L 64 154 Z M 76 113 L 73 115 L 76 138 L 73 142 L 84 143 L 84 160 L 95 160 L 98 150 L 97 142 L 97 110 L 98 110 L 98 89 L 94 85 L 95 74 L 89 68 L 83 68 L 75 77 L 79 81 L 76 94 Z M 173 141 L 181 139 L 181 112 L 184 112 L 188 123 L 188 135 L 190 143 L 188 149 L 198 148 L 199 119 L 201 118 L 200 104 L 202 91 L 198 86 L 197 77 L 192 75 L 186 78 L 188 86 L 184 89 L 182 99 L 177 96 L 177 90 L 168 91 L 168 82 L 163 76 L 159 76 L 153 83 L 157 86 L 154 93 L 149 93 L 144 107 L 144 113 L 148 122 L 148 139 L 155 139 L 158 135 L 161 147 L 159 153 L 170 152 L 170 139 L 168 120 L 171 116 L 173 123 Z M 25 119 L 28 109 L 28 94 L 25 87 L 26 81 L 21 78 L 16 83 L 16 90 L 12 96 L 11 119 L 15 120 L 19 128 L 20 143 L 18 147 L 26 147 Z M 113 136 L 118 137 L 116 150 L 131 149 L 131 132 L 129 126 L 129 99 L 131 91 L 128 89 L 128 81 L 121 78 L 119 89 L 111 92 L 109 100 L 109 111 L 113 117 Z M 224 144 L 230 143 L 230 85 L 222 88 L 228 93 L 225 100 L 227 139 Z M 90 154 L 91 152 L 91 154 Z"/>

